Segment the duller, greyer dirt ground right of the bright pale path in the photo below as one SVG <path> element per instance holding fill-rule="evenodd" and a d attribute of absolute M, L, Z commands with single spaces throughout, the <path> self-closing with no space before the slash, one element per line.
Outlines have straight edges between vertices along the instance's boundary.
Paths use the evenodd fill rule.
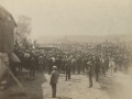
<path fill-rule="evenodd" d="M 101 76 L 99 86 L 105 90 L 110 99 L 132 99 L 132 68 L 128 74 L 124 72 L 114 73 L 113 76 L 107 73 L 107 77 Z"/>

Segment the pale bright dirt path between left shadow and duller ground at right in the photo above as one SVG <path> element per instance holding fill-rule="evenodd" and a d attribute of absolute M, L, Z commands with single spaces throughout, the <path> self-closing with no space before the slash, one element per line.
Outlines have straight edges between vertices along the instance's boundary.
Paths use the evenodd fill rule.
<path fill-rule="evenodd" d="M 45 74 L 47 82 L 43 84 L 44 99 L 51 99 L 50 75 Z M 94 87 L 88 88 L 88 77 L 72 75 L 69 81 L 65 81 L 65 75 L 61 74 L 57 85 L 57 99 L 110 99 L 107 92 L 100 90 L 98 82 L 94 80 Z"/>

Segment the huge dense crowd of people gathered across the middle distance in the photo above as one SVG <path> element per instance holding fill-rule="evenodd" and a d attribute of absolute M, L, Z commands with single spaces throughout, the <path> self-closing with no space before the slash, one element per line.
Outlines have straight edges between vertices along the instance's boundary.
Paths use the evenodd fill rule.
<path fill-rule="evenodd" d="M 111 75 L 117 70 L 128 70 L 131 62 L 131 47 L 118 44 L 52 44 L 56 48 L 52 50 L 22 50 L 15 47 L 14 53 L 21 59 L 19 70 L 30 69 L 30 76 L 34 76 L 35 69 L 52 73 L 53 66 L 57 70 L 66 74 L 66 79 L 70 79 L 70 74 L 89 74 L 90 86 L 92 87 L 92 75 L 99 80 L 99 73 L 106 76 L 106 72 L 111 68 Z"/>

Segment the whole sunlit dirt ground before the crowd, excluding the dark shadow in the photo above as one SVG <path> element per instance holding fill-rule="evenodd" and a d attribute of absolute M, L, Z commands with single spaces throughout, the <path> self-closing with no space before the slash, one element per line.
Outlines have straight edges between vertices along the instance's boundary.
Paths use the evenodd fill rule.
<path fill-rule="evenodd" d="M 42 85 L 44 99 L 52 99 L 50 75 L 44 74 L 47 81 Z M 69 81 L 65 81 L 65 75 L 59 75 L 56 99 L 132 99 L 132 76 L 118 72 L 107 76 L 100 75 L 99 82 L 95 81 L 94 87 L 88 88 L 88 77 L 84 75 L 72 75 Z"/>

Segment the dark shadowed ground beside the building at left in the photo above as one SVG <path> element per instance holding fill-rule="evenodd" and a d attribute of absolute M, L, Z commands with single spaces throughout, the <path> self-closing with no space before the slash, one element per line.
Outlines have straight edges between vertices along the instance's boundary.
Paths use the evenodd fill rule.
<path fill-rule="evenodd" d="M 12 77 L 8 77 L 9 82 L 3 91 L 0 91 L 0 99 L 43 99 L 42 84 L 46 80 L 43 73 L 35 73 L 35 77 L 30 77 L 29 70 L 24 69 L 16 76 L 24 90 L 16 85 Z"/>

